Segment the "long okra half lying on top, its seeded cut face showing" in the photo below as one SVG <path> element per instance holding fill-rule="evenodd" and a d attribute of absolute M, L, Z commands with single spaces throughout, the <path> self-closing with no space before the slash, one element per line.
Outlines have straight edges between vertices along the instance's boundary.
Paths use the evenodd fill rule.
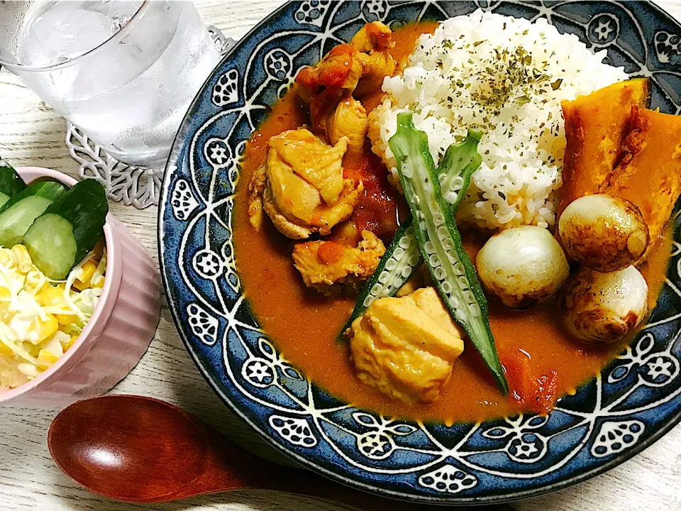
<path fill-rule="evenodd" d="M 397 116 L 397 133 L 389 145 L 433 283 L 506 395 L 508 384 L 489 329 L 487 300 L 461 243 L 450 204 L 442 196 L 438 172 L 428 150 L 428 136 L 416 129 L 411 114 L 403 113 Z"/>

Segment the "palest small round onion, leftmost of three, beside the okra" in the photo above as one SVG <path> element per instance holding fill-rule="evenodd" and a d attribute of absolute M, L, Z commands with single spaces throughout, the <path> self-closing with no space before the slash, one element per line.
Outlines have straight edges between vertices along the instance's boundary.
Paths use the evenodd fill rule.
<path fill-rule="evenodd" d="M 528 309 L 546 302 L 570 272 L 558 241 L 537 226 L 495 234 L 477 253 L 476 263 L 487 292 L 511 309 Z"/>

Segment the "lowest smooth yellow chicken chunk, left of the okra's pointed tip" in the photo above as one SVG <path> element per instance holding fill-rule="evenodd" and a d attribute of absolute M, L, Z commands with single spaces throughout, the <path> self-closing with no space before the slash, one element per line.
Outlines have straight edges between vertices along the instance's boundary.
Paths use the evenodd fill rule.
<path fill-rule="evenodd" d="M 433 287 L 376 300 L 350 336 L 358 378 L 410 404 L 438 399 L 463 352 L 460 331 Z"/>

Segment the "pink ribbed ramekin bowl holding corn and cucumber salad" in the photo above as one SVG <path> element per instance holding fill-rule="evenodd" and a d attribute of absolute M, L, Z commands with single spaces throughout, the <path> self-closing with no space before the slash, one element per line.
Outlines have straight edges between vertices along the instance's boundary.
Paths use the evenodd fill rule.
<path fill-rule="evenodd" d="M 50 177 L 72 186 L 72 177 L 21 167 L 27 183 Z M 0 391 L 0 405 L 65 407 L 110 390 L 137 365 L 160 319 L 161 284 L 156 264 L 113 215 L 104 224 L 107 263 L 101 298 L 78 340 L 38 378 Z"/>

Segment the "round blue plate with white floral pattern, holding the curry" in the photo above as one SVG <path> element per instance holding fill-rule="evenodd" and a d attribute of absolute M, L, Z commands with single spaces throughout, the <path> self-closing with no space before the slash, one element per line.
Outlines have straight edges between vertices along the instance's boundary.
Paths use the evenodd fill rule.
<path fill-rule="evenodd" d="M 445 427 L 357 410 L 290 366 L 243 300 L 231 214 L 238 158 L 267 105 L 302 66 L 367 21 L 396 27 L 478 8 L 548 18 L 594 50 L 606 49 L 612 65 L 651 77 L 654 107 L 681 110 L 681 26 L 646 1 L 294 0 L 240 40 L 206 82 L 175 141 L 159 212 L 168 301 L 215 392 L 305 466 L 423 502 L 494 502 L 557 490 L 633 456 L 681 417 L 679 243 L 648 326 L 549 417 Z"/>

